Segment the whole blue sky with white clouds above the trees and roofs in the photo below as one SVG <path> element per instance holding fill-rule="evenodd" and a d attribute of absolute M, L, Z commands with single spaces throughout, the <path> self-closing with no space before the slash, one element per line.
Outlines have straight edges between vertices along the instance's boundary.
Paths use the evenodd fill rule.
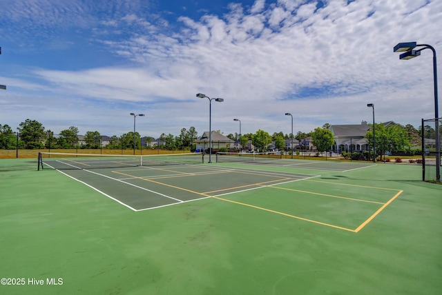
<path fill-rule="evenodd" d="M 324 123 L 434 117 L 442 1 L 0 0 L 0 124 L 55 134 L 309 132 Z M 440 61 L 438 67 L 441 68 Z M 442 74 L 439 74 L 439 85 Z M 439 108 L 440 110 L 440 108 Z"/>

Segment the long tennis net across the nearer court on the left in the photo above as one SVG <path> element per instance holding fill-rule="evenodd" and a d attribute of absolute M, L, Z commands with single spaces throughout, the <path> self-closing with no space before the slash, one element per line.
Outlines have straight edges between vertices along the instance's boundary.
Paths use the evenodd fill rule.
<path fill-rule="evenodd" d="M 74 154 L 62 152 L 39 152 L 38 170 L 49 167 L 57 170 L 98 169 L 136 166 L 183 165 L 204 163 L 204 155 L 184 154 Z"/>

